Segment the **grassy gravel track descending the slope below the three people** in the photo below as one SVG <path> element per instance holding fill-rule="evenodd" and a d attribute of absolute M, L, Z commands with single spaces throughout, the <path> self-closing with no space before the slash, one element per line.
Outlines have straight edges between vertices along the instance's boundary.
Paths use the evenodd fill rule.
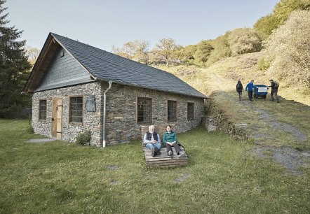
<path fill-rule="evenodd" d="M 242 101 L 238 101 L 236 80 L 223 78 L 214 70 L 206 70 L 205 76 L 208 96 L 224 109 L 232 122 L 243 124 L 256 143 L 252 152 L 259 157 L 272 157 L 295 176 L 302 175 L 301 167 L 310 164 L 310 136 L 306 131 L 310 130 L 310 125 L 296 117 L 310 121 L 309 106 L 284 99 L 276 104 L 269 100 L 269 95 L 267 100 L 248 101 L 246 92 L 243 92 Z M 244 88 L 246 84 L 243 83 Z"/>

